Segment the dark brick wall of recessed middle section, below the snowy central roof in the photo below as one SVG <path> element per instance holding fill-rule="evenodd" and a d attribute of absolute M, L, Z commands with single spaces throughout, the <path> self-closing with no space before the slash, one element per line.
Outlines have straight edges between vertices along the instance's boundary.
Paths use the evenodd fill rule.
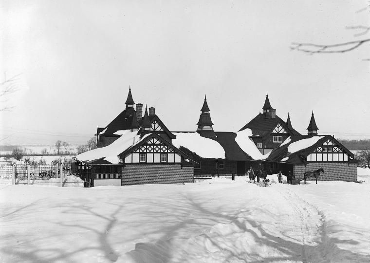
<path fill-rule="evenodd" d="M 237 174 L 237 162 L 225 162 L 224 169 L 218 169 L 218 172 L 222 176 Z M 216 161 L 202 161 L 201 169 L 194 169 L 195 177 L 206 177 L 206 176 L 217 176 Z"/>

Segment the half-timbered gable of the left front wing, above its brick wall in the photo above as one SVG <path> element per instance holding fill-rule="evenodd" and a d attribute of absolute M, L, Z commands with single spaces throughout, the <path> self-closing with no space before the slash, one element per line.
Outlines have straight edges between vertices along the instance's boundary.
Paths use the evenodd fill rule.
<path fill-rule="evenodd" d="M 181 163 L 186 155 L 156 133 L 149 135 L 146 140 L 122 153 L 119 158 L 123 163 Z"/>

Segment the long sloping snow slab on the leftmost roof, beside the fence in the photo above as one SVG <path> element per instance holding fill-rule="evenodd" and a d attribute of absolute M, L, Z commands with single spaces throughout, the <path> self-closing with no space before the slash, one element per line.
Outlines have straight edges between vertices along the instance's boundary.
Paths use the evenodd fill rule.
<path fill-rule="evenodd" d="M 77 156 L 75 156 L 75 158 L 79 161 L 90 162 L 92 160 L 97 160 L 104 157 L 103 160 L 106 160 L 111 164 L 118 164 L 120 162 L 119 158 L 117 157 L 118 154 L 128 149 L 129 147 L 138 144 L 150 135 L 148 133 L 140 139 L 140 134 L 137 134 L 137 131 L 131 132 L 130 130 L 126 130 L 120 133 L 122 134 L 122 136 L 112 142 L 110 145 L 86 151 L 84 153 L 78 154 Z"/>

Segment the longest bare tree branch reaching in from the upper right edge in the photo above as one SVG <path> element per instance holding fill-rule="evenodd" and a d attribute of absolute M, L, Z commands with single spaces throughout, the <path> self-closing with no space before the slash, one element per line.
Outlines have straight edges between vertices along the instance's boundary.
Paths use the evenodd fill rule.
<path fill-rule="evenodd" d="M 345 53 L 354 50 L 362 44 L 369 42 L 370 38 L 350 41 L 345 43 L 333 44 L 333 45 L 318 45 L 313 43 L 292 43 L 291 50 L 306 52 L 311 55 L 317 53 Z M 347 47 L 349 46 L 349 47 Z M 335 48 L 339 48 L 335 50 Z"/>

